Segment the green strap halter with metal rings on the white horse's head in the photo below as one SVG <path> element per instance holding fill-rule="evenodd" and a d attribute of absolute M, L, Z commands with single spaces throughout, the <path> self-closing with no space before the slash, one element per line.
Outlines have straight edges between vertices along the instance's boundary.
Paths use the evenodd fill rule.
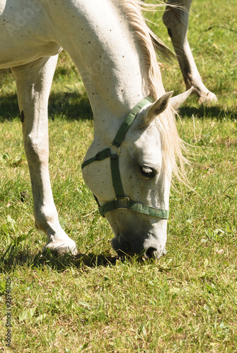
<path fill-rule="evenodd" d="M 152 102 L 151 98 L 146 97 L 143 100 L 141 100 L 141 102 L 139 102 L 137 105 L 135 105 L 135 107 L 131 110 L 131 112 L 129 112 L 129 114 L 125 118 L 125 121 L 123 121 L 122 125 L 117 131 L 115 139 L 108 146 L 108 148 L 105 148 L 105 150 L 98 152 L 94 157 L 90 158 L 89 160 L 86 160 L 81 164 L 81 168 L 83 169 L 84 167 L 86 167 L 88 164 L 91 164 L 92 162 L 105 160 L 106 158 L 110 157 L 112 186 L 115 189 L 115 195 L 116 195 L 115 200 L 105 203 L 105 205 L 103 206 L 100 206 L 100 204 L 98 203 L 98 199 L 94 195 L 96 198 L 96 202 L 98 203 L 98 206 L 99 206 L 100 215 L 102 215 L 103 217 L 105 217 L 105 213 L 107 213 L 108 211 L 127 209 L 127 210 L 136 211 L 139 213 L 144 213 L 145 215 L 151 215 L 154 217 L 163 218 L 165 220 L 168 219 L 168 210 L 161 210 L 160 208 L 154 208 L 148 205 L 144 205 L 143 203 L 132 201 L 128 196 L 125 196 L 125 192 L 122 187 L 122 180 L 120 177 L 120 164 L 119 164 L 120 145 L 122 144 L 122 141 L 124 140 L 129 127 L 132 125 L 132 122 L 136 118 L 141 108 L 144 107 L 144 105 L 151 102 Z M 112 153 L 111 146 L 115 146 L 115 148 L 117 148 L 117 152 Z"/>

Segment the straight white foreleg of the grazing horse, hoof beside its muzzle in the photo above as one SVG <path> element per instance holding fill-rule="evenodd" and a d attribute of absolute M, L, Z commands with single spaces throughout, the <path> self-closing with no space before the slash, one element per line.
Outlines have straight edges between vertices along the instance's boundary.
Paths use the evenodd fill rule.
<path fill-rule="evenodd" d="M 59 224 L 48 169 L 47 104 L 57 56 L 11 68 L 16 77 L 25 154 L 33 191 L 35 227 L 47 234 L 43 251 L 76 254 L 76 244 Z"/>

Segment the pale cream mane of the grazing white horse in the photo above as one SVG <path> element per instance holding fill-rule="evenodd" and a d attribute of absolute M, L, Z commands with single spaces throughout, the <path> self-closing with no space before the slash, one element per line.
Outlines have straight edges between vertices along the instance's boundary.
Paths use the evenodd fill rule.
<path fill-rule="evenodd" d="M 157 54 L 154 47 L 161 51 L 163 56 L 168 56 L 170 49 L 166 47 L 162 41 L 156 37 L 151 29 L 146 25 L 146 20 L 141 11 L 144 8 L 144 3 L 140 0 L 115 0 L 120 6 L 122 13 L 129 21 L 129 26 L 134 32 L 134 37 L 137 39 L 141 51 L 144 54 L 145 61 L 145 85 L 149 95 L 158 100 L 166 91 L 163 88 L 161 79 L 161 71 L 158 66 Z M 158 116 L 156 125 L 161 133 L 163 144 L 163 167 L 167 174 L 168 162 L 171 161 L 173 175 L 184 184 L 187 184 L 185 175 L 185 163 L 187 160 L 183 156 L 183 150 L 186 150 L 183 140 L 180 138 L 176 126 L 175 111 L 168 106 L 165 112 Z M 171 177 L 170 175 L 168 175 Z"/>

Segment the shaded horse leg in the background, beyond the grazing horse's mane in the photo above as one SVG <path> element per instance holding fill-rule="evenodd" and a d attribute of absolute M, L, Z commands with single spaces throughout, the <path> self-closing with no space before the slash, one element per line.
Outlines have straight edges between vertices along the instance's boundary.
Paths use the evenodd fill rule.
<path fill-rule="evenodd" d="M 197 70 L 195 59 L 192 56 L 190 44 L 187 40 L 187 26 L 192 0 L 168 0 L 166 4 L 163 23 L 166 25 L 172 40 L 186 88 L 194 87 L 192 92 L 197 95 L 200 103 L 216 102 L 216 95 L 210 92 L 202 83 L 202 78 Z M 180 7 L 169 5 L 178 5 Z"/>

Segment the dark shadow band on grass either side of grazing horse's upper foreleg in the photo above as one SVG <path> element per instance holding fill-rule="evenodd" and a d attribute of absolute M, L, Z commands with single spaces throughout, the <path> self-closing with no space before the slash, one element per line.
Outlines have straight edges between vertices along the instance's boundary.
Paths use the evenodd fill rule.
<path fill-rule="evenodd" d="M 55 116 L 64 119 L 79 120 L 93 119 L 91 105 L 86 92 L 60 92 L 50 95 L 48 106 L 49 117 L 54 120 Z M 17 95 L 4 95 L 0 100 L 0 123 L 12 121 L 17 116 L 20 117 Z"/>

